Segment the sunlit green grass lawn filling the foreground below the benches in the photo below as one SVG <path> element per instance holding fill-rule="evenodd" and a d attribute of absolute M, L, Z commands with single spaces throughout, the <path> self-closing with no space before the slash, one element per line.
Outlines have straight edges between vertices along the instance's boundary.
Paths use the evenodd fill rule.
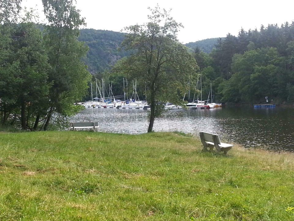
<path fill-rule="evenodd" d="M 0 220 L 294 220 L 293 155 L 179 133 L 0 133 Z"/>

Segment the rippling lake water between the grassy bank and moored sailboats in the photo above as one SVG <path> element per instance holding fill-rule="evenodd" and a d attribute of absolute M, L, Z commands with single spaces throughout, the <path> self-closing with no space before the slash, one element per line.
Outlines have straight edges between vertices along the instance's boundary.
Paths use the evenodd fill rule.
<path fill-rule="evenodd" d="M 87 108 L 70 118 L 73 122 L 100 122 L 99 131 L 141 134 L 148 128 L 148 111 L 140 109 Z M 170 110 L 154 121 L 154 131 L 199 131 L 245 148 L 294 150 L 294 108 L 221 107 Z"/>

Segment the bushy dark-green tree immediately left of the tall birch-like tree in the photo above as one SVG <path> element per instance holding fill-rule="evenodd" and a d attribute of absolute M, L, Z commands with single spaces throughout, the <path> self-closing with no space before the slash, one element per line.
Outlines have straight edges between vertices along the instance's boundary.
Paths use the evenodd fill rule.
<path fill-rule="evenodd" d="M 15 53 L 11 61 L 18 64 L 16 75 L 13 76 L 18 79 L 14 91 L 17 92 L 16 102 L 21 107 L 21 127 L 27 130 L 31 129 L 30 118 L 47 108 L 49 65 L 42 33 L 35 24 L 27 22 L 17 25 L 14 38 Z M 35 125 L 38 121 L 35 121 Z"/>

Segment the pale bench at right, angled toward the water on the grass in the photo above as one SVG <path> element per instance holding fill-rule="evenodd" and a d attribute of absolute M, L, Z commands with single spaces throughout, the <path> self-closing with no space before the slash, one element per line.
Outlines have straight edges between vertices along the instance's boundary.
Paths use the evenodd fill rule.
<path fill-rule="evenodd" d="M 227 152 L 232 149 L 232 144 L 226 144 L 220 142 L 220 137 L 217 134 L 210 134 L 206 132 L 200 132 L 200 139 L 203 144 L 203 151 L 207 151 L 207 148 L 209 147 L 210 151 L 213 150 L 213 147 L 217 149 L 217 152 L 224 152 L 224 154 L 227 154 Z"/>

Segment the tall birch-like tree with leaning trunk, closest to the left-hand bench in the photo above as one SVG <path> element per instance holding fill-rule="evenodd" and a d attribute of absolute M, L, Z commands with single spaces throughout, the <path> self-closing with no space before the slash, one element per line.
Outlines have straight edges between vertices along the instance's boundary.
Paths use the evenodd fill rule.
<path fill-rule="evenodd" d="M 79 27 L 85 25 L 73 0 L 43 0 L 44 13 L 49 25 L 45 27 L 45 42 L 48 48 L 50 107 L 44 130 L 47 130 L 53 112 L 68 113 L 72 103 L 87 93 L 87 82 L 91 79 L 81 58 L 88 47 L 77 40 Z"/>

